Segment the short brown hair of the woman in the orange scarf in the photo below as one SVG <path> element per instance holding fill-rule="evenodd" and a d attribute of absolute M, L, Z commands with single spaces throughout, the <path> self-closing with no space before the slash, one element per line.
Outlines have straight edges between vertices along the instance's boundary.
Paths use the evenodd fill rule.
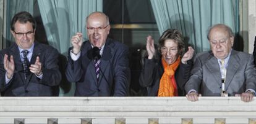
<path fill-rule="evenodd" d="M 181 34 L 181 32 L 179 32 L 179 30 L 177 29 L 167 29 L 166 31 L 164 31 L 164 33 L 161 35 L 160 39 L 159 39 L 159 45 L 160 45 L 160 51 L 161 48 L 164 46 L 164 42 L 167 39 L 173 39 L 174 42 L 177 43 L 178 45 L 178 54 L 177 55 L 181 55 L 182 56 L 182 52 L 185 51 L 185 43 L 184 43 L 184 39 L 183 36 Z"/>

